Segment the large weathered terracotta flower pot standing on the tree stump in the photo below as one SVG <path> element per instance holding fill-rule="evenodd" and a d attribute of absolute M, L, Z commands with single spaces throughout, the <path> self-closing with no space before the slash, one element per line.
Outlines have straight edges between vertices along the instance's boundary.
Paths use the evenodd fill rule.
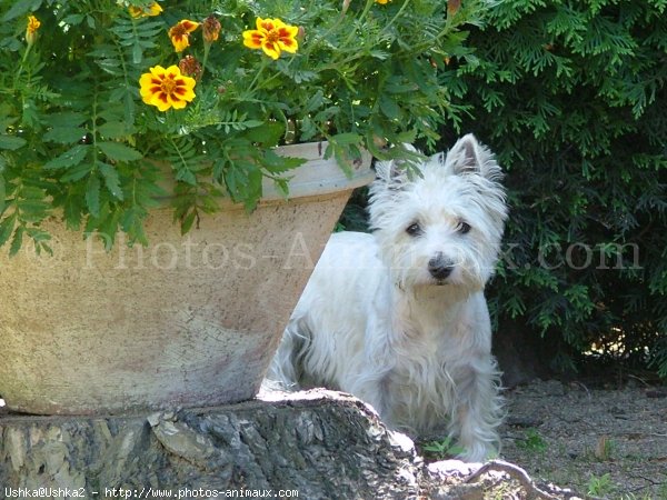
<path fill-rule="evenodd" d="M 290 200 L 251 214 L 237 206 L 186 237 L 169 209 L 149 216 L 150 246 L 110 253 L 57 220 L 53 257 L 0 256 L 0 396 L 11 410 L 103 414 L 215 406 L 252 398 L 289 314 L 351 190 L 321 144 Z M 270 191 L 267 189 L 267 191 Z"/>

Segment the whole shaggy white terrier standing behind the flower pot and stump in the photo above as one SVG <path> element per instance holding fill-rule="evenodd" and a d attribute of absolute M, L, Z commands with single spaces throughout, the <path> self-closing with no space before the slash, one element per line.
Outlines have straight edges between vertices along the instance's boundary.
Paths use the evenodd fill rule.
<path fill-rule="evenodd" d="M 507 217 L 500 168 L 461 138 L 409 179 L 379 162 L 372 234 L 331 237 L 289 321 L 268 379 L 328 387 L 390 427 L 447 432 L 481 461 L 499 444 L 499 372 L 484 287 Z"/>

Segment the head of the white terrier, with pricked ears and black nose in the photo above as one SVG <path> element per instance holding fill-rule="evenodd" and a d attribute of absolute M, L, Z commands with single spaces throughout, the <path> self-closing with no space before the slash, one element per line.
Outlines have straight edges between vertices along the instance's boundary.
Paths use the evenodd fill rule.
<path fill-rule="evenodd" d="M 404 287 L 484 288 L 491 277 L 507 207 L 502 173 L 472 134 L 419 164 L 378 162 L 370 223 L 382 259 Z"/>

